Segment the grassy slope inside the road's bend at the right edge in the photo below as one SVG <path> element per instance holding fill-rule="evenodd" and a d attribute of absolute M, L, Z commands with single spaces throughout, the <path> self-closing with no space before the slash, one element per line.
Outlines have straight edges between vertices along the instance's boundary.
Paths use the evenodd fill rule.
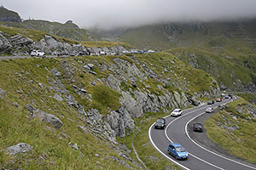
<path fill-rule="evenodd" d="M 205 123 L 205 127 L 207 128 L 207 136 L 212 139 L 213 142 L 229 150 L 232 155 L 256 163 L 256 122 L 255 120 L 250 121 L 247 119 L 248 115 L 246 113 L 241 115 L 236 112 L 237 105 L 246 104 L 248 104 L 248 102 L 242 98 L 228 104 L 225 111 L 220 111 L 208 119 Z M 230 112 L 236 116 L 240 116 L 240 118 L 238 118 L 237 121 L 234 120 L 232 116 L 230 116 Z M 225 119 L 223 117 L 225 117 Z M 230 132 L 224 127 L 219 127 L 217 122 L 223 125 L 227 123 L 227 126 L 232 127 L 237 125 L 239 129 Z"/>

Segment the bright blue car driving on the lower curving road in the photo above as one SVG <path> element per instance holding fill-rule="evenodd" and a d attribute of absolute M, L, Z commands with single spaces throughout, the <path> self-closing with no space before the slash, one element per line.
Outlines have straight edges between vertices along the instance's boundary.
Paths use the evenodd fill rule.
<path fill-rule="evenodd" d="M 181 144 L 169 144 L 167 151 L 177 160 L 188 159 L 189 157 L 188 152 L 183 148 Z"/>

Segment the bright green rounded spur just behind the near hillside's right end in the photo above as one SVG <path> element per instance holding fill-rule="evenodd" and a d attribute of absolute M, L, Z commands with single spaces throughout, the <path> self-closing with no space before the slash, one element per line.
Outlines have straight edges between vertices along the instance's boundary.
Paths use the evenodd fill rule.
<path fill-rule="evenodd" d="M 238 79 L 245 84 L 253 81 L 253 78 L 250 76 L 253 74 L 251 71 L 230 59 L 225 59 L 207 50 L 199 48 L 172 48 L 168 51 L 177 55 L 185 63 L 196 63 L 195 67 L 207 71 L 213 77 L 216 77 L 218 82 L 222 82 L 228 87 L 232 88 L 234 86 L 233 82 L 236 82 Z M 194 54 L 196 58 L 191 57 Z"/>

